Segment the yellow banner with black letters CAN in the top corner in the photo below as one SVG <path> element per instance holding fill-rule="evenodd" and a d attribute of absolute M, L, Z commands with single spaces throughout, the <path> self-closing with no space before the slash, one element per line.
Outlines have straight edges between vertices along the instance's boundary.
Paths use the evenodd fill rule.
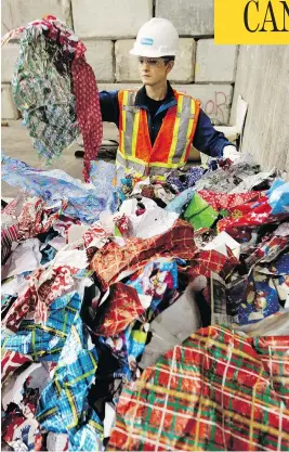
<path fill-rule="evenodd" d="M 289 0 L 214 0 L 216 44 L 288 44 Z"/>

